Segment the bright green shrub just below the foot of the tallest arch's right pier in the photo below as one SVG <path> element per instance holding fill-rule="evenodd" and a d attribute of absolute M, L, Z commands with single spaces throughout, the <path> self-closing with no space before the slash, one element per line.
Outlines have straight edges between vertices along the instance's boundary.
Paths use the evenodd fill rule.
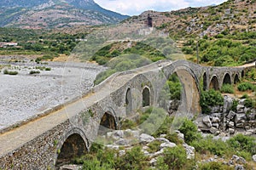
<path fill-rule="evenodd" d="M 198 133 L 195 123 L 189 119 L 184 120 L 179 131 L 184 134 L 184 139 L 187 144 L 190 144 L 193 140 L 201 139 L 201 134 Z"/>

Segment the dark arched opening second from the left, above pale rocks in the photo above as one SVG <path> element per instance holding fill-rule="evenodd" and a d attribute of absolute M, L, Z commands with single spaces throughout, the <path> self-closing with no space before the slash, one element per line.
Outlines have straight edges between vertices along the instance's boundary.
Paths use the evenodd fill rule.
<path fill-rule="evenodd" d="M 103 135 L 111 131 L 111 129 L 116 130 L 117 124 L 115 122 L 114 116 L 106 112 L 102 116 L 98 134 Z"/>

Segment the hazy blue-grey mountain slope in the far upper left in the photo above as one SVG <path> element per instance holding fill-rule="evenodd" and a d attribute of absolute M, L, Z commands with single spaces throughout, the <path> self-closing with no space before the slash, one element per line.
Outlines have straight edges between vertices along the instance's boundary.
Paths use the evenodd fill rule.
<path fill-rule="evenodd" d="M 100 7 L 93 0 L 32 0 L 0 2 L 0 26 L 61 28 L 118 23 L 128 16 Z"/>

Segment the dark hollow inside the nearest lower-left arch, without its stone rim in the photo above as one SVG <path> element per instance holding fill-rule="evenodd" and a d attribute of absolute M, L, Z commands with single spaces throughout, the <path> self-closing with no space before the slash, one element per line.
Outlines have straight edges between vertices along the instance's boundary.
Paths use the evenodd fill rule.
<path fill-rule="evenodd" d="M 55 167 L 69 164 L 74 158 L 83 156 L 86 152 L 87 148 L 84 139 L 78 133 L 73 133 L 62 144 L 61 150 L 58 150 L 59 155 Z"/>

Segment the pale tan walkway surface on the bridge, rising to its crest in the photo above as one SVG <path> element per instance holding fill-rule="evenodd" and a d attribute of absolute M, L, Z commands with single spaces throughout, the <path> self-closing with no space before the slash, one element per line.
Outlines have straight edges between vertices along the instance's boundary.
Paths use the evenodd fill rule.
<path fill-rule="evenodd" d="M 161 65 L 149 65 L 131 71 L 129 74 L 117 75 L 108 79 L 100 89 L 93 94 L 87 94 L 81 99 L 74 101 L 71 104 L 65 105 L 58 111 L 54 111 L 47 116 L 39 117 L 38 119 L 27 122 L 26 124 L 16 127 L 9 132 L 0 134 L 0 156 L 4 156 L 9 152 L 20 148 L 23 144 L 35 139 L 40 134 L 43 134 L 53 127 L 67 121 L 69 117 L 75 116 L 84 108 L 93 105 L 96 101 L 101 100 L 112 93 L 115 89 L 131 80 L 132 77 L 146 72 L 160 69 L 160 66 L 171 64 L 170 62 L 161 63 Z M 114 82 L 114 83 L 111 83 Z"/>

